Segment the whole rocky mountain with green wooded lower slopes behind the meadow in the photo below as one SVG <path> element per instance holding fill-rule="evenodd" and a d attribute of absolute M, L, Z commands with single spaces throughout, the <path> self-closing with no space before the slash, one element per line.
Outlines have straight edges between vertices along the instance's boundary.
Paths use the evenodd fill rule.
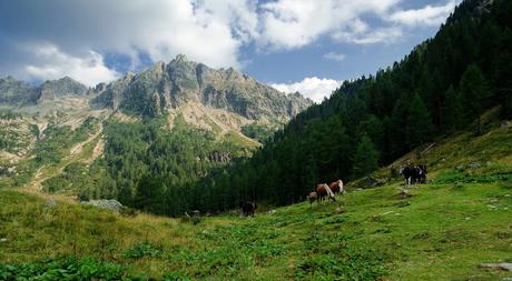
<path fill-rule="evenodd" d="M 0 86 L 0 187 L 115 198 L 171 215 L 198 203 L 184 194 L 190 187 L 313 104 L 183 54 L 95 88 L 68 77 Z"/>

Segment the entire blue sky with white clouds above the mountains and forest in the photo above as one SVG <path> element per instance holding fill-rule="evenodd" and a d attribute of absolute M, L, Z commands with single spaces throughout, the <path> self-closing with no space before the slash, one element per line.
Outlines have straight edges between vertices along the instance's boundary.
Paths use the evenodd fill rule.
<path fill-rule="evenodd" d="M 0 77 L 85 84 L 178 53 L 315 101 L 435 34 L 461 0 L 4 0 Z"/>

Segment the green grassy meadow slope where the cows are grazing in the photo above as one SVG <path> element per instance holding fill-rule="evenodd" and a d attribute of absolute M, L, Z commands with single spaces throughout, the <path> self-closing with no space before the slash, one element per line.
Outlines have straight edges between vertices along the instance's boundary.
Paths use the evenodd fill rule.
<path fill-rule="evenodd" d="M 412 198 L 396 197 L 403 187 L 394 179 L 336 203 L 197 224 L 125 218 L 65 199 L 48 208 L 40 197 L 0 190 L 0 238 L 7 238 L 0 262 L 77 254 L 156 278 L 179 271 L 204 280 L 498 280 L 512 273 L 479 264 L 512 262 L 511 152 L 512 129 L 463 133 L 422 155 L 433 180 L 411 189 Z M 387 174 L 383 169 L 375 177 Z M 161 254 L 127 258 L 145 241 Z"/>

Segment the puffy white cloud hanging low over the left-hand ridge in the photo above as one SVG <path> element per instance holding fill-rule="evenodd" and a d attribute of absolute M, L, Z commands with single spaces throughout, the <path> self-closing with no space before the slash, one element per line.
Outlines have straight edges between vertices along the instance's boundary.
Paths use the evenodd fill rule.
<path fill-rule="evenodd" d="M 119 73 L 105 66 L 101 54 L 93 51 L 89 51 L 83 58 L 77 58 L 60 51 L 56 46 L 45 44 L 35 47 L 32 52 L 38 57 L 39 64 L 26 66 L 26 71 L 30 78 L 37 80 L 69 76 L 86 86 L 95 86 L 119 77 Z"/>

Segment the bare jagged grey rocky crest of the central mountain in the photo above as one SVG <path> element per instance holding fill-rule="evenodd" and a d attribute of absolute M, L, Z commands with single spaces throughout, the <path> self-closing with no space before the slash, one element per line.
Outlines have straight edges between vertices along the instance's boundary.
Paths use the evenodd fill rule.
<path fill-rule="evenodd" d="M 91 101 L 96 107 L 145 117 L 159 116 L 187 102 L 224 109 L 250 120 L 279 121 L 313 104 L 301 94 L 284 94 L 233 68 L 215 70 L 184 54 L 138 74 L 128 72 L 106 86 Z"/>

